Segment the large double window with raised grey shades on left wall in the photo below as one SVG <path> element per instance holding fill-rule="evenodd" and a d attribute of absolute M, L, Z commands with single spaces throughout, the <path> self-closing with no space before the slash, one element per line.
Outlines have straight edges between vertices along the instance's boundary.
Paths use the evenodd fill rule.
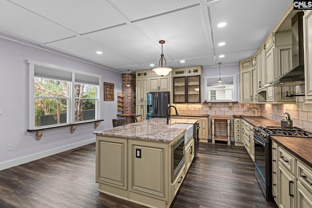
<path fill-rule="evenodd" d="M 101 76 L 28 60 L 29 129 L 99 119 Z"/>

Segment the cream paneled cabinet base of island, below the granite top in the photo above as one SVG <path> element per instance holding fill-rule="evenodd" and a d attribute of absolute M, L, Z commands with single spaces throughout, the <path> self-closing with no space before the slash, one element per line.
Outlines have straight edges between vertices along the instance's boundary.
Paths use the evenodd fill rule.
<path fill-rule="evenodd" d="M 172 181 L 173 144 L 97 135 L 98 191 L 147 207 L 169 208 L 195 158 L 191 138 L 185 144 L 185 163 Z"/>

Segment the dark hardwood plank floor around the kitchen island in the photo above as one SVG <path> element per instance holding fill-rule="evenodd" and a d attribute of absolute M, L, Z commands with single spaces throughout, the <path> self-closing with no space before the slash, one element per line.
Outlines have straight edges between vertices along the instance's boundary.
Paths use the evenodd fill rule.
<path fill-rule="evenodd" d="M 200 143 L 172 208 L 276 208 L 243 147 Z M 98 192 L 95 143 L 0 171 L 0 208 L 143 208 Z"/>

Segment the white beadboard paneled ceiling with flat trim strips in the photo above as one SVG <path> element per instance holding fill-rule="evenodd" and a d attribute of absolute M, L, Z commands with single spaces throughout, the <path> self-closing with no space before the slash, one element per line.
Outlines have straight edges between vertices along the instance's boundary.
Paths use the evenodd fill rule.
<path fill-rule="evenodd" d="M 121 73 L 158 66 L 160 39 L 166 41 L 163 52 L 168 67 L 234 64 L 254 55 L 291 3 L 0 0 L 0 38 L 19 40 Z M 227 25 L 218 28 L 222 21 Z M 225 45 L 218 46 L 219 42 Z M 152 63 L 155 67 L 150 66 Z"/>

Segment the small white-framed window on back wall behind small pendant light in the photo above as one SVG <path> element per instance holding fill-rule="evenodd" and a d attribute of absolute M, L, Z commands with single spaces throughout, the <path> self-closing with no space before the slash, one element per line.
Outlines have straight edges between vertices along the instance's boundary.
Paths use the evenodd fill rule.
<path fill-rule="evenodd" d="M 222 82 L 218 82 L 219 76 L 206 76 L 205 79 L 205 100 L 214 101 L 237 101 L 236 97 L 236 76 L 221 76 Z"/>

